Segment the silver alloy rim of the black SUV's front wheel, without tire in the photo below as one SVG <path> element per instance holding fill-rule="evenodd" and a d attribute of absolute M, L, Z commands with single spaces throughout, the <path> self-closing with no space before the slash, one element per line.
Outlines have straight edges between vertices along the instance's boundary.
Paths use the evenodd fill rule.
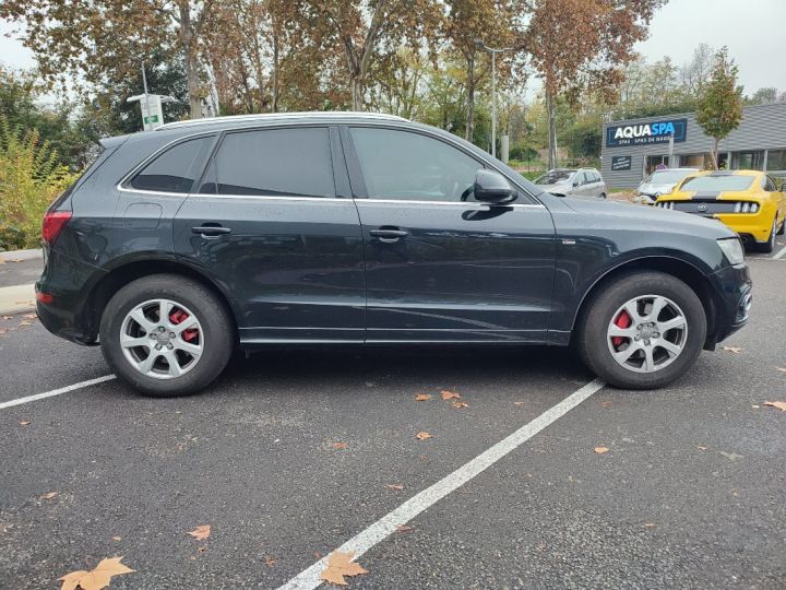
<path fill-rule="evenodd" d="M 682 354 L 688 320 L 668 297 L 642 295 L 611 316 L 606 340 L 619 365 L 635 373 L 655 373 Z"/>

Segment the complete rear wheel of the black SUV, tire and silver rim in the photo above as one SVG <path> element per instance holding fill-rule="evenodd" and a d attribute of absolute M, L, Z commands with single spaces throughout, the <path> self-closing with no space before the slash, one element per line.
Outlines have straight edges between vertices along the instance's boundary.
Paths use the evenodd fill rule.
<path fill-rule="evenodd" d="M 224 370 L 234 333 L 224 306 L 203 285 L 156 274 L 110 299 L 100 344 L 119 377 L 145 394 L 171 397 L 194 393 Z"/>

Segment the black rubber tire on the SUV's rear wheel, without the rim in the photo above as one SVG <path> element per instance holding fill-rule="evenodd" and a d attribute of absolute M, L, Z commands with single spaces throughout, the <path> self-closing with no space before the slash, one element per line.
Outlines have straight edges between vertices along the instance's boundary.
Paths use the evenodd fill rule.
<path fill-rule="evenodd" d="M 150 299 L 171 299 L 190 309 L 202 327 L 203 351 L 194 366 L 182 376 L 156 379 L 131 366 L 120 346 L 126 316 Z M 202 284 L 177 274 L 154 274 L 138 279 L 109 300 L 100 321 L 104 358 L 117 374 L 140 392 L 156 398 L 188 396 L 207 387 L 226 367 L 235 349 L 235 327 L 222 302 Z"/>

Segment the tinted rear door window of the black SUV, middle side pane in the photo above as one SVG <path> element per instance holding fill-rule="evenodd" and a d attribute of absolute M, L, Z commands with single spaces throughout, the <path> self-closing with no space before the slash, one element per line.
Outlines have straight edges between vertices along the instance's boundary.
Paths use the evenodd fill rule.
<path fill-rule="evenodd" d="M 335 197 L 326 128 L 228 133 L 201 192 Z"/>

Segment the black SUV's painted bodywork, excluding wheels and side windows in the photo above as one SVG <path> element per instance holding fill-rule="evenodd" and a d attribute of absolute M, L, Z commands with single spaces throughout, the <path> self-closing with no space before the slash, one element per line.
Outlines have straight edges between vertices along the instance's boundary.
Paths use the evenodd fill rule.
<path fill-rule="evenodd" d="M 444 187 L 436 185 L 414 187 L 414 197 L 404 200 L 373 193 L 353 135 L 358 128 L 438 142 L 478 168 L 502 174 L 516 198 L 501 205 L 472 198 L 440 202 L 433 194 Z M 228 188 L 226 175 L 235 173 L 231 160 L 221 160 L 225 145 L 253 139 L 242 133 L 289 129 L 321 130 L 323 173 L 332 178 L 320 194 L 253 194 L 233 178 L 237 187 Z M 129 184 L 159 154 L 199 138 L 209 139 L 198 156 L 204 162 L 193 164 L 199 173 L 190 191 Z M 314 149 L 313 142 L 295 144 Z M 716 244 L 734 237 L 725 226 L 652 208 L 544 193 L 476 146 L 430 127 L 352 114 L 237 118 L 167 127 L 105 145 L 109 154 L 97 169 L 56 205 L 70 209 L 73 217 L 53 246 L 45 247 L 46 268 L 37 283 L 53 297 L 38 304 L 44 324 L 84 344 L 96 342 L 112 287 L 151 270 L 181 271 L 210 284 L 227 302 L 245 347 L 567 344 L 582 303 L 597 284 L 651 263 L 678 264 L 706 285 L 705 305 L 713 315 L 707 346 L 747 319 L 739 309 L 751 282 L 747 268 L 730 266 Z M 278 145 L 283 153 L 289 149 Z M 315 175 L 314 166 L 312 158 L 298 174 Z"/>

